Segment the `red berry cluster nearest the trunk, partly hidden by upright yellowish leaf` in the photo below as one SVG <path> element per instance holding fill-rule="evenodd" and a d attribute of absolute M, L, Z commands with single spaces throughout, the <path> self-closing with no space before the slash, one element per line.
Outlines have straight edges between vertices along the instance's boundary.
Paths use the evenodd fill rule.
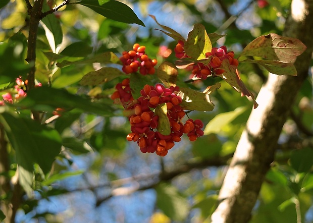
<path fill-rule="evenodd" d="M 175 49 L 177 58 L 182 59 L 188 57 L 184 50 L 184 42 L 179 40 Z M 206 59 L 210 59 L 207 64 L 196 63 L 192 67 L 192 77 L 201 78 L 205 80 L 208 76 L 223 74 L 225 71 L 221 68 L 222 61 L 228 60 L 233 66 L 238 66 L 238 60 L 234 58 L 233 51 L 227 51 L 226 46 L 220 48 L 213 47 L 211 52 L 205 53 Z"/>

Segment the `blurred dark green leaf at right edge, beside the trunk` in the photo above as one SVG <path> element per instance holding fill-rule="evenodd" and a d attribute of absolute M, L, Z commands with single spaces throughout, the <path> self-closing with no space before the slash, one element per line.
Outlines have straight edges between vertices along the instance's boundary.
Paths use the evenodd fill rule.
<path fill-rule="evenodd" d="M 291 153 L 290 164 L 298 173 L 304 173 L 311 169 L 313 165 L 313 149 L 303 148 L 293 150 Z"/>

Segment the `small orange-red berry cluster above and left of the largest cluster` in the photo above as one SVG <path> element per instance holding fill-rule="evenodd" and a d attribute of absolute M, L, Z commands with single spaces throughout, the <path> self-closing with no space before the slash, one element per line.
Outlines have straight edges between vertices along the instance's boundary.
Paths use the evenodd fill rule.
<path fill-rule="evenodd" d="M 142 75 L 154 74 L 154 66 L 158 63 L 156 59 L 151 60 L 147 54 L 145 54 L 145 46 L 140 46 L 138 43 L 133 45 L 133 49 L 122 52 L 120 57 L 123 63 L 123 72 L 126 74 L 134 73 L 139 70 Z"/>

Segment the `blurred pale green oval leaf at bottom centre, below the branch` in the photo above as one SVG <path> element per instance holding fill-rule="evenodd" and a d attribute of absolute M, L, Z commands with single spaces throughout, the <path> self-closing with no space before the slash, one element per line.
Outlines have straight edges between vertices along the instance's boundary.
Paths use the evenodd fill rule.
<path fill-rule="evenodd" d="M 173 185 L 161 183 L 156 188 L 156 205 L 171 219 L 183 221 L 189 213 L 188 200 Z"/>

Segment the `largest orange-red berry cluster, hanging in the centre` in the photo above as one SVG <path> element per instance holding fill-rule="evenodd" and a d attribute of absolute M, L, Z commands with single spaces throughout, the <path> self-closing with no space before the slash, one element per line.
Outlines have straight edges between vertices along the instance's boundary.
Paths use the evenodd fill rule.
<path fill-rule="evenodd" d="M 133 110 L 133 114 L 129 117 L 132 133 L 127 135 L 127 140 L 137 142 L 141 152 L 155 152 L 165 156 L 175 142 L 181 140 L 184 133 L 188 135 L 190 141 L 195 141 L 197 137 L 203 135 L 201 130 L 203 124 L 200 120 L 189 119 L 185 124 L 182 123 L 186 114 L 179 105 L 182 99 L 176 94 L 178 90 L 178 87 L 165 88 L 161 84 L 156 84 L 155 87 L 145 85 L 136 103 L 128 107 Z M 163 135 L 156 130 L 159 116 L 153 109 L 162 104 L 167 106 L 167 117 L 171 127 L 169 135 Z"/>

